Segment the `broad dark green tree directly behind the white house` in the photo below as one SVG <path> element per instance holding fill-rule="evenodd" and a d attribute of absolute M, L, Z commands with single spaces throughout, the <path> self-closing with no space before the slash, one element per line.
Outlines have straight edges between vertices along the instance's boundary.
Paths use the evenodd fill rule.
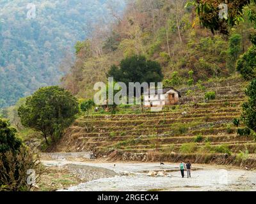
<path fill-rule="evenodd" d="M 163 73 L 161 66 L 156 61 L 148 61 L 144 56 L 133 55 L 120 62 L 120 67 L 113 65 L 107 77 L 113 77 L 115 82 L 162 82 Z"/>

